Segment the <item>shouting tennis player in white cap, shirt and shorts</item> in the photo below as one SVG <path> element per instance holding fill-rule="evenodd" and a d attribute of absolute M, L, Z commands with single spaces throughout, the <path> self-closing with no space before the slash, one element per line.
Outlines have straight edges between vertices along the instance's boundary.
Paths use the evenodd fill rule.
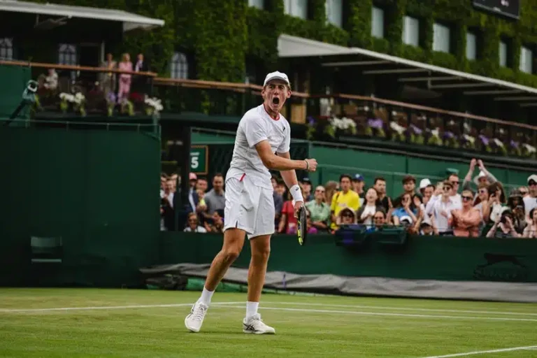
<path fill-rule="evenodd" d="M 201 297 L 194 303 L 185 326 L 198 332 L 210 299 L 227 269 L 243 250 L 248 234 L 252 259 L 248 269 L 248 302 L 243 332 L 274 334 L 275 330 L 257 313 L 265 282 L 271 235 L 274 233 L 274 201 L 269 169 L 280 171 L 294 198 L 297 215 L 303 197 L 296 169 L 315 171 L 315 159 L 292 160 L 289 155 L 289 122 L 280 115 L 291 86 L 285 73 L 268 73 L 262 90 L 263 104 L 248 110 L 238 124 L 231 166 L 226 176 L 224 244 L 211 264 Z"/>

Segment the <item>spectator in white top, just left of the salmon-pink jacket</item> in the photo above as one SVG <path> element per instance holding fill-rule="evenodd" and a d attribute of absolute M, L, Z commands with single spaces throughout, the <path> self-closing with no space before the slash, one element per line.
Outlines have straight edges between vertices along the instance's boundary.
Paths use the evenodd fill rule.
<path fill-rule="evenodd" d="M 441 183 L 441 187 L 436 188 L 436 199 L 427 203 L 425 209 L 426 215 L 433 215 L 434 227 L 438 230 L 440 235 L 453 234 L 452 227 L 450 225 L 450 217 L 452 210 L 459 209 L 460 207 L 452 199 L 453 185 L 450 180 L 444 180 Z M 441 192 L 441 194 L 438 194 Z M 438 199 L 440 196 L 440 199 Z"/>

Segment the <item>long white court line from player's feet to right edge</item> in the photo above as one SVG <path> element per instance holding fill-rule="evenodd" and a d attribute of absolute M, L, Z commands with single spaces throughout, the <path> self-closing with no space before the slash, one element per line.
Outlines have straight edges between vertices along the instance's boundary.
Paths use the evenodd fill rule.
<path fill-rule="evenodd" d="M 243 306 L 225 306 L 221 308 L 243 308 Z M 418 317 L 418 318 L 452 318 L 452 319 L 461 319 L 461 320 L 537 322 L 537 320 L 531 319 L 531 318 L 417 315 L 417 314 L 412 315 L 410 313 L 382 313 L 382 312 L 366 312 L 366 311 L 353 311 L 353 310 L 313 310 L 313 309 L 308 309 L 308 308 L 285 308 L 285 307 L 265 307 L 265 306 L 259 306 L 259 310 L 287 310 L 287 311 L 311 312 L 311 313 L 343 313 L 343 314 L 351 314 L 351 315 Z"/>

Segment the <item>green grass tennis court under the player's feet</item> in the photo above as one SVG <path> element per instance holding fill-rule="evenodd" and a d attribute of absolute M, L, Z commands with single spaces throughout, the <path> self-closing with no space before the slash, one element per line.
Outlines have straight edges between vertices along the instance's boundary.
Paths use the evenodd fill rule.
<path fill-rule="evenodd" d="M 537 304 L 265 294 L 262 336 L 242 332 L 245 294 L 220 292 L 189 333 L 198 296 L 0 289 L 0 357 L 537 357 Z"/>

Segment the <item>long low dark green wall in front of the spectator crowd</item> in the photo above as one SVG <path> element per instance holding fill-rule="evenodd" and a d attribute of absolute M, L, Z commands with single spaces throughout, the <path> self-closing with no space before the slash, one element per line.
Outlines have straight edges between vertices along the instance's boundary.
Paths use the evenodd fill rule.
<path fill-rule="evenodd" d="M 162 264 L 210 264 L 222 248 L 222 235 L 215 234 L 166 232 L 161 241 Z M 234 266 L 247 268 L 248 264 L 250 245 L 246 241 Z M 537 282 L 537 241 L 411 236 L 403 248 L 371 242 L 360 250 L 351 250 L 336 246 L 331 235 L 310 235 L 304 246 L 296 242 L 296 236 L 275 235 L 271 238 L 268 271 L 413 280 Z"/>

